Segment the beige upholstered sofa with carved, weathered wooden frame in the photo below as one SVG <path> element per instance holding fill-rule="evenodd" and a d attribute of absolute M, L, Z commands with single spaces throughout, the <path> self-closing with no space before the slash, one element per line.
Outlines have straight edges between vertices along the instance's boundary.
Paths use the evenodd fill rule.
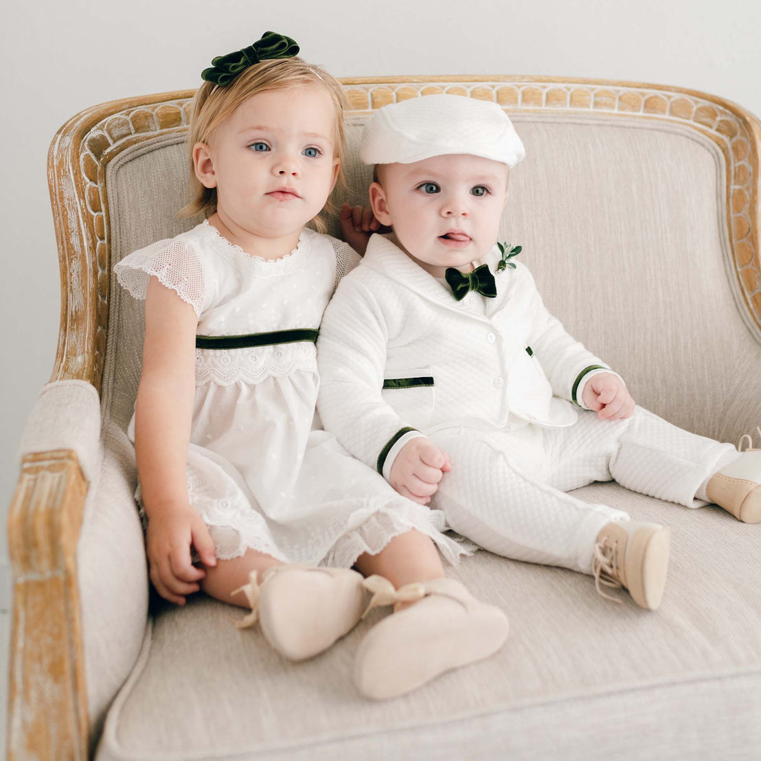
<path fill-rule="evenodd" d="M 761 446 L 759 123 L 693 91 L 540 78 L 346 81 L 350 199 L 371 110 L 440 91 L 497 100 L 527 148 L 504 239 L 546 304 L 677 425 Z M 53 376 L 21 442 L 9 518 L 12 759 L 758 759 L 761 526 L 616 484 L 578 495 L 672 528 L 661 610 L 591 578 L 479 552 L 454 568 L 504 607 L 495 658 L 390 702 L 352 657 L 283 661 L 237 609 L 149 610 L 125 428 L 142 304 L 113 263 L 194 222 L 183 205 L 191 92 L 121 100 L 56 136 L 49 179 L 62 272 Z M 334 230 L 335 232 L 335 230 Z M 51 326 L 53 330 L 53 326 Z M 747 444 L 747 442 L 746 442 Z"/>

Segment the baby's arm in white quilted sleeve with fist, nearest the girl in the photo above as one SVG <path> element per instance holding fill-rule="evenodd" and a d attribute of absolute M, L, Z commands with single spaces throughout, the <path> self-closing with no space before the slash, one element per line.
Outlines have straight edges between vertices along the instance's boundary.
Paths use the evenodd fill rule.
<path fill-rule="evenodd" d="M 448 459 L 418 433 L 390 463 L 394 444 L 415 434 L 381 395 L 389 333 L 395 330 L 388 317 L 355 273 L 342 281 L 320 326 L 317 407 L 326 431 L 347 451 L 387 476 L 397 492 L 425 505 L 442 471 L 449 470 Z"/>

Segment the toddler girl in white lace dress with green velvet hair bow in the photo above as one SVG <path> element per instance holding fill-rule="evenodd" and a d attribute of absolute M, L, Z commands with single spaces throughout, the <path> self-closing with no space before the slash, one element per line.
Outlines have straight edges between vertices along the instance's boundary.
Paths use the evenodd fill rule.
<path fill-rule="evenodd" d="M 466 549 L 437 529 L 441 513 L 396 494 L 314 422 L 320 320 L 358 256 L 304 227 L 320 228 L 339 177 L 344 96 L 296 53 L 268 32 L 205 69 L 188 211 L 208 218 L 115 267 L 145 299 L 130 425 L 139 498 L 159 594 L 183 604 L 201 588 L 248 604 L 246 621 L 258 616 L 288 658 L 358 621 L 365 581 L 352 565 L 380 575 L 366 582 L 370 607 L 419 600 L 358 654 L 361 691 L 386 697 L 491 654 L 507 621 L 443 578 L 437 548 L 450 562 Z"/>

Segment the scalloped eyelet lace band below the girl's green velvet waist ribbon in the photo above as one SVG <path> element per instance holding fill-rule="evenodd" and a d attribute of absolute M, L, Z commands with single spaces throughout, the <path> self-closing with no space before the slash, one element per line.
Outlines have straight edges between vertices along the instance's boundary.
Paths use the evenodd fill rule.
<path fill-rule="evenodd" d="M 317 372 L 314 345 L 298 342 L 253 349 L 196 349 L 196 385 L 256 383 L 262 377 L 297 370 Z"/>

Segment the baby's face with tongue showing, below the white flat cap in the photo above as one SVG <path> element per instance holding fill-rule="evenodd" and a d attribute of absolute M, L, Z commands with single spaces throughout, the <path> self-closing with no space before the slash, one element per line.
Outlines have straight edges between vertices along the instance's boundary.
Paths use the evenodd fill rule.
<path fill-rule="evenodd" d="M 413 260 L 435 277 L 466 268 L 495 244 L 508 198 L 508 167 L 479 156 L 385 164 L 370 199 Z"/>

